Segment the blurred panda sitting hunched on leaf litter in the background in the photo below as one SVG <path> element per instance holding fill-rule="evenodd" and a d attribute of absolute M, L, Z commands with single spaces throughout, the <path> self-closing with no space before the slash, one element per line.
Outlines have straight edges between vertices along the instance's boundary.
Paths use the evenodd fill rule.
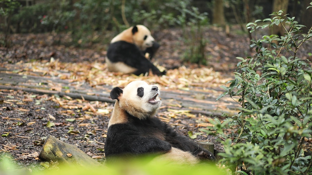
<path fill-rule="evenodd" d="M 108 47 L 105 61 L 111 72 L 122 72 L 124 74 L 149 73 L 164 75 L 153 63 L 152 59 L 158 50 L 159 44 L 155 42 L 149 29 L 143 25 L 132 26 L 115 36 Z M 145 57 L 148 53 L 149 59 Z"/>

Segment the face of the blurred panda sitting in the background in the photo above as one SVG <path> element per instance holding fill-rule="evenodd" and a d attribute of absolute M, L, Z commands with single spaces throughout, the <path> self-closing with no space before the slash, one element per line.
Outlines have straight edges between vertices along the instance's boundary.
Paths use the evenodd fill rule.
<path fill-rule="evenodd" d="M 140 50 L 144 51 L 148 47 L 152 47 L 155 39 L 151 35 L 148 28 L 143 25 L 136 25 L 138 32 L 133 35 L 134 44 L 137 45 Z"/>

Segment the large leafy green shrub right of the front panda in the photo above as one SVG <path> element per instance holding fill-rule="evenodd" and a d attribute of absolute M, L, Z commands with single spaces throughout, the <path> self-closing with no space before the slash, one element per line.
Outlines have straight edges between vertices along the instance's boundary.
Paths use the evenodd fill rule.
<path fill-rule="evenodd" d="M 282 11 L 273 14 L 277 15 L 273 19 L 247 24 L 256 36 L 250 45 L 256 54 L 237 58 L 241 61 L 235 79 L 227 82 L 228 87 L 222 86 L 225 92 L 217 98 L 237 99 L 241 112 L 224 122 L 212 120 L 214 127 L 205 131 L 225 140 L 225 152 L 220 155 L 232 172 L 237 167 L 242 174 L 310 174 L 311 152 L 306 144 L 312 132 L 312 71 L 296 54 L 312 38 L 312 27 L 300 35 L 305 26 L 294 17 L 283 19 Z M 269 24 L 260 25 L 266 21 Z M 285 36 L 257 38 L 258 29 L 283 21 L 289 25 L 284 26 Z M 232 133 L 225 132 L 228 128 Z"/>

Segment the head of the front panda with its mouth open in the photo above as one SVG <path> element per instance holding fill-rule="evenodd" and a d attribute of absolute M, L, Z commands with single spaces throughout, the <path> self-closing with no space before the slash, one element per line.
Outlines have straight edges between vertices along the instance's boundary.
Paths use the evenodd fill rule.
<path fill-rule="evenodd" d="M 144 81 L 133 81 L 124 89 L 114 87 L 110 92 L 110 97 L 118 100 L 122 110 L 141 120 L 155 115 L 161 106 L 158 95 L 158 87 Z"/>

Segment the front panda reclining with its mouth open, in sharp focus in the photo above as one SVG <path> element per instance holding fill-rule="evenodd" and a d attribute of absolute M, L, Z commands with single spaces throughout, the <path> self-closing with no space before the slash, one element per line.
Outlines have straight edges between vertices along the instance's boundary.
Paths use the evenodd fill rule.
<path fill-rule="evenodd" d="M 179 164 L 215 160 L 211 152 L 155 117 L 161 106 L 159 93 L 157 86 L 144 81 L 133 81 L 124 89 L 114 87 L 111 90 L 110 97 L 117 100 L 108 123 L 104 146 L 106 161 L 144 154 Z"/>

